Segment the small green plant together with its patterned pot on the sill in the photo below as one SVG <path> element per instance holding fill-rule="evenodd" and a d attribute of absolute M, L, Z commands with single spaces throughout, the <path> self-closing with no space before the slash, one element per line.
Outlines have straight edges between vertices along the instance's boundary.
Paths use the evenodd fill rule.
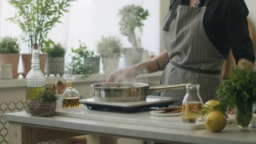
<path fill-rule="evenodd" d="M 49 41 L 49 44 L 46 46 L 45 50 L 46 53 L 48 53 L 48 59 L 47 59 L 47 75 L 50 74 L 60 75 L 62 76 L 65 73 L 65 49 L 60 44 L 55 44 L 53 41 Z"/>

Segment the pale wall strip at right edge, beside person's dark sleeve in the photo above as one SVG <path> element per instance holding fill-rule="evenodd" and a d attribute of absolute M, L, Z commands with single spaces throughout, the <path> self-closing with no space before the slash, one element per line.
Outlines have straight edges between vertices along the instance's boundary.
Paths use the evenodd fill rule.
<path fill-rule="evenodd" d="M 253 43 L 254 43 L 254 53 L 256 54 L 256 1 L 255 0 L 245 0 L 247 7 L 249 9 L 249 20 L 252 23 L 253 27 Z M 256 69 L 256 62 L 254 63 L 254 69 Z"/>

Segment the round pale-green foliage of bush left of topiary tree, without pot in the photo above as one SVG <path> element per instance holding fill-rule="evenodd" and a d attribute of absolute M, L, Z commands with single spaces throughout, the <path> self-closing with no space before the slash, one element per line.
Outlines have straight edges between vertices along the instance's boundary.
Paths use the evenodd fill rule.
<path fill-rule="evenodd" d="M 120 57 L 121 46 L 122 44 L 118 38 L 102 36 L 101 40 L 97 43 L 97 52 L 101 57 Z"/>

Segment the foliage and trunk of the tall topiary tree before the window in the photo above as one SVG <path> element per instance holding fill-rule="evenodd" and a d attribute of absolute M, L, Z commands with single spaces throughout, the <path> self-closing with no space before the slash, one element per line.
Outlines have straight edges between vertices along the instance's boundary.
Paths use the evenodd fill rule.
<path fill-rule="evenodd" d="M 133 47 L 141 47 L 141 39 L 136 35 L 135 28 L 138 28 L 142 33 L 143 21 L 149 16 L 148 10 L 131 4 L 120 9 L 118 16 L 120 17 L 119 25 L 121 34 L 127 36 Z"/>

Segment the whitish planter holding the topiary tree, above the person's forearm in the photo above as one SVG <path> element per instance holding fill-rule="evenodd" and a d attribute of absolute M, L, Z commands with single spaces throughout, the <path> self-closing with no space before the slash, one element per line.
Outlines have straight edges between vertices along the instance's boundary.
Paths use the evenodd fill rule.
<path fill-rule="evenodd" d="M 124 66 L 129 67 L 142 62 L 143 48 L 123 48 Z"/>

